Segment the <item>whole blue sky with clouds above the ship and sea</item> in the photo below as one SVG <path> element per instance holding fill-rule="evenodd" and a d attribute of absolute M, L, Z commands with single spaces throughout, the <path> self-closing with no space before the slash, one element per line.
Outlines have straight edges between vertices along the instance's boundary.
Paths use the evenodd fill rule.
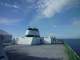
<path fill-rule="evenodd" d="M 80 38 L 80 0 L 0 0 L 0 29 L 19 37 L 29 26 L 41 36 Z"/>

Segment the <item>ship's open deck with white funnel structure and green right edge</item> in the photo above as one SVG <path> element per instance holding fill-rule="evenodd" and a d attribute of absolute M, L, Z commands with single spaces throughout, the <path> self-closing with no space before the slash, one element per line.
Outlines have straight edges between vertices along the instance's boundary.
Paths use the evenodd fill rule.
<path fill-rule="evenodd" d="M 63 40 L 55 37 L 41 37 L 39 29 L 28 28 L 23 37 L 16 39 L 15 45 L 6 46 L 8 60 L 80 60 L 77 53 Z M 0 60 L 5 55 L 0 55 Z M 7 59 L 5 59 L 7 60 Z"/>

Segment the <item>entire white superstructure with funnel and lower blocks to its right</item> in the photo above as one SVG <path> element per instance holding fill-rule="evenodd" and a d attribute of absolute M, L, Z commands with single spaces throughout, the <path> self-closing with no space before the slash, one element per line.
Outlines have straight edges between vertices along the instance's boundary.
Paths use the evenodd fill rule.
<path fill-rule="evenodd" d="M 24 37 L 17 39 L 16 44 L 37 45 L 37 44 L 54 44 L 62 43 L 57 41 L 54 37 L 40 37 L 37 28 L 28 28 Z"/>

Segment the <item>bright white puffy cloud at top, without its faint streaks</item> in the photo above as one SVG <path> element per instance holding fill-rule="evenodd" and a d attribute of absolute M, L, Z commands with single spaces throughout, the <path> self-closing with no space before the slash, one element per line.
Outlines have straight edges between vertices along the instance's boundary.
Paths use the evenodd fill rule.
<path fill-rule="evenodd" d="M 51 17 L 59 13 L 69 2 L 70 0 L 41 0 L 38 6 L 42 15 Z"/>

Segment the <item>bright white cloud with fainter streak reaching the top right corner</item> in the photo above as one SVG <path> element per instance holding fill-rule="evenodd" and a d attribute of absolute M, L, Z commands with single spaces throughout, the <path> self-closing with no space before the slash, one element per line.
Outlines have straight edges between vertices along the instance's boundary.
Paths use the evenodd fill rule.
<path fill-rule="evenodd" d="M 79 0 L 40 0 L 37 5 L 39 12 L 45 17 L 52 17 L 63 9 L 79 6 Z"/>

